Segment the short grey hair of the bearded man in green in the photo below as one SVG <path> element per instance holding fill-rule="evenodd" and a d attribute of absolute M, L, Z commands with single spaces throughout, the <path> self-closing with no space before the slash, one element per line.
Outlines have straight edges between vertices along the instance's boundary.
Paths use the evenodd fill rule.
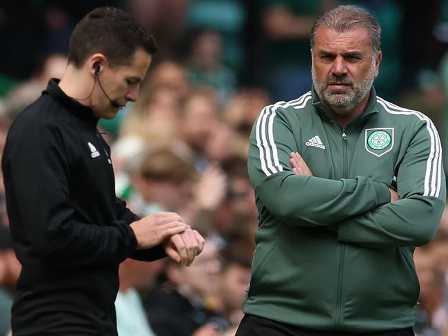
<path fill-rule="evenodd" d="M 374 54 L 378 56 L 381 51 L 381 27 L 374 17 L 363 8 L 352 5 L 338 6 L 318 17 L 309 36 L 312 48 L 316 40 L 316 32 L 318 28 L 323 26 L 332 28 L 337 32 L 365 27 L 369 31 L 371 48 Z"/>

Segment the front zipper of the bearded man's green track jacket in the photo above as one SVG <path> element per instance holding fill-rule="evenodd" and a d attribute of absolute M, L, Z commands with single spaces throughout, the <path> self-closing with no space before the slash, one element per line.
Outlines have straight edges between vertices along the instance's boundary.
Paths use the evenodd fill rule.
<path fill-rule="evenodd" d="M 342 130 L 338 127 L 343 145 L 343 178 L 348 177 L 348 153 L 347 153 L 347 127 Z M 345 244 L 341 243 L 339 248 L 339 266 L 338 266 L 338 291 L 336 293 L 336 314 L 334 317 L 334 328 L 340 328 L 342 318 L 343 301 L 343 282 L 344 282 L 344 262 L 345 262 Z"/>

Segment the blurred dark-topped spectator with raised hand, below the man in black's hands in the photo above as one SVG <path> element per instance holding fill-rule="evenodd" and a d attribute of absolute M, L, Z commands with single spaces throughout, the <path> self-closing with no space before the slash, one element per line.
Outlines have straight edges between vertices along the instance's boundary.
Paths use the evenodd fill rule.
<path fill-rule="evenodd" d="M 228 322 L 216 309 L 221 263 L 218 250 L 206 240 L 190 267 L 169 262 L 168 284 L 146 298 L 150 325 L 157 336 L 218 336 Z"/>

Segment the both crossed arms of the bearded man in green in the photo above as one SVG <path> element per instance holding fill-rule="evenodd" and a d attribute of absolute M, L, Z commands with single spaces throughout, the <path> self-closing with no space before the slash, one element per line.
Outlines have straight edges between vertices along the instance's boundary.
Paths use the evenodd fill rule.
<path fill-rule="evenodd" d="M 269 213 L 286 224 L 327 227 L 336 232 L 340 242 L 369 247 L 427 244 L 445 207 L 445 177 L 441 160 L 434 158 L 434 139 L 426 124 L 418 124 L 414 131 L 400 163 L 396 193 L 364 176 L 341 180 L 312 176 L 296 154 L 289 120 L 278 109 L 265 143 L 252 132 L 248 167 L 256 196 Z M 271 171 L 262 166 L 259 152 L 269 146 L 278 157 L 278 162 L 272 161 Z"/>

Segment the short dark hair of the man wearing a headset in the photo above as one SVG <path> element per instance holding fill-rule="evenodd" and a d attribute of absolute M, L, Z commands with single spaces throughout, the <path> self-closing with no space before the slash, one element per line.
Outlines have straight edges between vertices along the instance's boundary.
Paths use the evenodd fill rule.
<path fill-rule="evenodd" d="M 129 64 L 134 52 L 157 51 L 154 37 L 127 12 L 114 7 L 99 7 L 79 21 L 72 32 L 68 62 L 81 67 L 92 54 L 108 58 L 111 67 Z"/>

